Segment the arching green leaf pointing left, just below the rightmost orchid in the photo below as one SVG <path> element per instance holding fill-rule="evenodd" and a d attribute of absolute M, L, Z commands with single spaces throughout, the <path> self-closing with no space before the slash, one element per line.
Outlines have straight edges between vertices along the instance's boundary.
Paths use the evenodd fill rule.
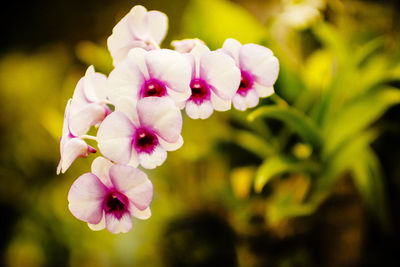
<path fill-rule="evenodd" d="M 314 122 L 300 111 L 291 107 L 265 106 L 250 113 L 248 119 L 264 117 L 280 120 L 298 133 L 306 142 L 312 145 L 320 145 L 322 137 L 319 128 Z"/>

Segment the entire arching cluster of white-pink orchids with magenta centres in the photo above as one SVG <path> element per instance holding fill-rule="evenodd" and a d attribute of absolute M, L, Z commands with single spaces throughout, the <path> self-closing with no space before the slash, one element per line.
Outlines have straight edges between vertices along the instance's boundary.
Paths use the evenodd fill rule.
<path fill-rule="evenodd" d="M 69 194 L 69 209 L 90 229 L 125 233 L 131 217 L 151 216 L 153 186 L 138 169 L 164 163 L 167 151 L 183 145 L 182 115 L 206 119 L 214 110 L 246 110 L 273 94 L 279 63 L 271 50 L 227 39 L 210 51 L 199 39 L 173 41 L 160 49 L 168 19 L 135 6 L 114 27 L 108 49 L 114 69 L 108 77 L 90 66 L 67 103 L 57 174 L 78 157 L 104 157 L 80 176 Z M 88 135 L 91 128 L 96 136 Z"/>

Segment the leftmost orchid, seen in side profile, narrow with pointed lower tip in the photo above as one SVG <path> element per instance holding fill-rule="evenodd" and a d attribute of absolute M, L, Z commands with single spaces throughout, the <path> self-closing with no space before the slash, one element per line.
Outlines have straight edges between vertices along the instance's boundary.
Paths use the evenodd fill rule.
<path fill-rule="evenodd" d="M 68 101 L 64 113 L 64 125 L 60 139 L 61 159 L 57 166 L 57 174 L 64 173 L 78 157 L 87 157 L 95 153 L 96 149 L 89 146 L 80 136 L 72 133 L 70 128 L 71 99 Z"/>

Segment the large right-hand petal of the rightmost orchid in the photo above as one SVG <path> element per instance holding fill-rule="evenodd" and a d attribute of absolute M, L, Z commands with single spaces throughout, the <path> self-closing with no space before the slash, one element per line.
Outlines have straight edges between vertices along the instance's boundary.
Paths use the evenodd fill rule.
<path fill-rule="evenodd" d="M 256 44 L 245 44 L 239 53 L 240 67 L 253 75 L 254 80 L 271 87 L 279 72 L 279 61 L 272 51 Z"/>

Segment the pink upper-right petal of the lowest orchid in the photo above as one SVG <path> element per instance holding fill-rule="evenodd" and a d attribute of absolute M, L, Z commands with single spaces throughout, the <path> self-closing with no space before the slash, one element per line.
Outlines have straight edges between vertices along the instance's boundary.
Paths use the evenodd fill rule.
<path fill-rule="evenodd" d="M 115 188 L 140 210 L 145 210 L 153 198 L 153 185 L 147 175 L 131 166 L 114 165 L 110 177 Z"/>

